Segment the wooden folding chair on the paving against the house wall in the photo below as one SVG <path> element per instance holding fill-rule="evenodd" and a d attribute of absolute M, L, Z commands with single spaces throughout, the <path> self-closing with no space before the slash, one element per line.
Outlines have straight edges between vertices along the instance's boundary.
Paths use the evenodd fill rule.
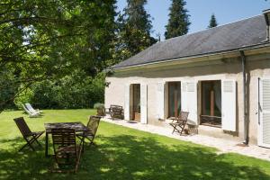
<path fill-rule="evenodd" d="M 184 126 L 187 122 L 189 112 L 180 112 L 179 116 L 170 122 L 169 124 L 174 128 L 173 132 L 178 132 L 180 135 L 182 135 L 182 132 L 184 130 Z"/>

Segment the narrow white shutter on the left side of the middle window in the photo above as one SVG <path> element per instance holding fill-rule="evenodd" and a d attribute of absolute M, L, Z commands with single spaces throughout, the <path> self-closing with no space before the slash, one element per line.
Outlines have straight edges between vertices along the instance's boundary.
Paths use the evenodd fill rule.
<path fill-rule="evenodd" d="M 165 109 L 164 109 L 164 89 L 165 89 L 165 83 L 160 82 L 157 83 L 157 119 L 158 120 L 164 120 L 165 119 Z"/>

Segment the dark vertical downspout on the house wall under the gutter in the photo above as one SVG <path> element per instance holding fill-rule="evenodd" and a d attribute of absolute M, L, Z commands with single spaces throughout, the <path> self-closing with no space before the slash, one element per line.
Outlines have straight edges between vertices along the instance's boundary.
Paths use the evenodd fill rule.
<path fill-rule="evenodd" d="M 242 62 L 242 75 L 243 75 L 243 104 L 244 104 L 244 141 L 243 144 L 248 144 L 247 136 L 247 76 L 246 76 L 246 56 L 244 50 L 239 50 Z"/>

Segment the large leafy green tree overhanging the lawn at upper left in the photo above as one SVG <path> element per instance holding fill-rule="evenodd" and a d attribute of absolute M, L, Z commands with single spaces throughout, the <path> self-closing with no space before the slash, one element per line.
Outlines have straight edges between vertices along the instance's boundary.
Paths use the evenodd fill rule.
<path fill-rule="evenodd" d="M 0 110 L 23 91 L 14 87 L 28 88 L 77 69 L 96 76 L 107 67 L 115 39 L 115 3 L 2 0 L 0 75 L 12 82 L 0 81 Z"/>

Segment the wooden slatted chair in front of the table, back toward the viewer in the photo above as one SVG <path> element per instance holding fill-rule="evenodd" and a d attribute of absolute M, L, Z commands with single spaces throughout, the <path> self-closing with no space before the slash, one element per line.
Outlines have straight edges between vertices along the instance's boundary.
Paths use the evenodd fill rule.
<path fill-rule="evenodd" d="M 75 172 L 80 162 L 82 152 L 82 141 L 76 145 L 76 133 L 74 129 L 62 128 L 52 129 L 51 137 L 54 150 L 54 158 L 57 169 L 53 172 Z M 73 166 L 74 168 L 70 168 Z"/>

